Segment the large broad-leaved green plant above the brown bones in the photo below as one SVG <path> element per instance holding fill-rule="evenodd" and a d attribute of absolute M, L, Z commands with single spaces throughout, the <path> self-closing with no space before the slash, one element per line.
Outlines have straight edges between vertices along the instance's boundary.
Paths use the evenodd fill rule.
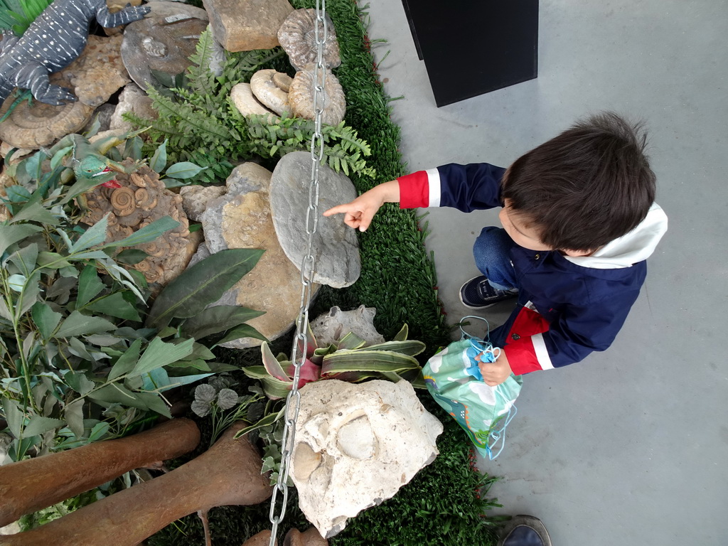
<path fill-rule="evenodd" d="M 42 153 L 42 152 L 41 152 Z M 39 153 L 39 154 L 41 154 Z M 124 247 L 178 225 L 169 217 L 106 242 L 107 219 L 84 229 L 74 197 L 99 179 L 63 184 L 69 167 L 23 160 L 24 184 L 8 186 L 0 223 L 0 416 L 12 459 L 127 434 L 153 414 L 170 416 L 162 395 L 231 366 L 205 344 L 255 336 L 261 312 L 205 309 L 250 271 L 262 250 L 225 250 L 183 272 L 147 309 L 146 280 L 124 269 Z M 165 341 L 163 341 L 165 340 Z"/>

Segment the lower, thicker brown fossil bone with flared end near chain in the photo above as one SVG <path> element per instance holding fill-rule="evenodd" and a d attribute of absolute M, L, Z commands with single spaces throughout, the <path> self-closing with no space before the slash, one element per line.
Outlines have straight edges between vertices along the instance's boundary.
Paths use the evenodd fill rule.
<path fill-rule="evenodd" d="M 119 491 L 32 531 L 0 537 L 0 546 L 136 546 L 173 521 L 215 506 L 255 505 L 271 496 L 261 456 L 237 422 L 197 459 Z"/>

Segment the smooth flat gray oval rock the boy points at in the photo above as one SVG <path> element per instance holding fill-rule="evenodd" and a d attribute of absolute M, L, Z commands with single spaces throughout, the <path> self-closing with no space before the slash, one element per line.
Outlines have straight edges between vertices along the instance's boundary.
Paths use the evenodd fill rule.
<path fill-rule="evenodd" d="M 306 211 L 309 207 L 310 178 L 311 154 L 293 151 L 276 165 L 270 186 L 275 232 L 285 255 L 298 269 L 301 269 L 308 250 Z M 347 176 L 321 165 L 319 220 L 313 250 L 316 258 L 314 282 L 344 288 L 359 278 L 361 259 L 355 230 L 344 224 L 341 218 L 321 216 L 324 210 L 348 203 L 356 197 L 357 191 Z"/>

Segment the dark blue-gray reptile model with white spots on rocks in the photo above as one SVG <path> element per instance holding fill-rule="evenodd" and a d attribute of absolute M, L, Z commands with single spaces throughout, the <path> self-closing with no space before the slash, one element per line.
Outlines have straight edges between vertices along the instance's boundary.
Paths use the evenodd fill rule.
<path fill-rule="evenodd" d="M 33 21 L 23 36 L 6 35 L 0 50 L 0 103 L 14 87 L 31 90 L 34 98 L 55 106 L 76 100 L 65 87 L 50 83 L 53 72 L 65 68 L 86 47 L 89 24 L 95 18 L 111 28 L 144 17 L 149 6 L 111 13 L 106 0 L 55 0 Z"/>

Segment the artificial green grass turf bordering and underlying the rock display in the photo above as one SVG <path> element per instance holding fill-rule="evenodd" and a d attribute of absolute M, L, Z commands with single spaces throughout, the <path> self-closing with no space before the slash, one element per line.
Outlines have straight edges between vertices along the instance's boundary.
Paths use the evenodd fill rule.
<path fill-rule="evenodd" d="M 293 0 L 296 8 L 315 6 L 315 0 Z M 375 179 L 352 176 L 360 192 L 377 183 L 405 173 L 398 150 L 400 129 L 389 119 L 389 100 L 384 94 L 366 34 L 365 15 L 355 1 L 328 0 L 326 8 L 333 20 L 341 49 L 341 67 L 334 72 L 347 95 L 347 124 L 368 141 L 376 169 Z M 303 226 L 301 226 L 303 229 Z M 410 338 L 427 344 L 425 357 L 450 341 L 450 331 L 441 312 L 432 260 L 424 248 L 425 233 L 420 231 L 414 210 L 384 205 L 367 232 L 359 234 L 362 273 L 349 288 L 323 287 L 311 317 L 338 305 L 352 309 L 360 304 L 377 309 L 375 325 L 385 339 L 410 327 Z M 288 352 L 290 336 L 276 343 L 277 350 Z M 224 350 L 220 360 L 242 363 L 259 360 L 258 349 L 246 352 Z M 392 499 L 360 513 L 346 529 L 329 540 L 331 546 L 493 546 L 496 543 L 494 520 L 482 518 L 494 504 L 480 499 L 493 478 L 479 475 L 470 467 L 470 441 L 464 432 L 432 400 L 419 392 L 425 407 L 438 416 L 444 432 L 438 438 L 440 455 L 421 470 Z M 203 423 L 200 422 L 202 425 Z M 242 539 L 261 529 L 270 529 L 269 503 L 253 507 L 223 507 L 210 510 L 210 528 L 215 546 L 239 546 Z M 199 544 L 202 526 L 196 515 L 183 518 L 160 531 L 150 546 Z M 288 502 L 288 516 L 282 531 L 307 526 L 298 510 L 295 492 Z"/>

